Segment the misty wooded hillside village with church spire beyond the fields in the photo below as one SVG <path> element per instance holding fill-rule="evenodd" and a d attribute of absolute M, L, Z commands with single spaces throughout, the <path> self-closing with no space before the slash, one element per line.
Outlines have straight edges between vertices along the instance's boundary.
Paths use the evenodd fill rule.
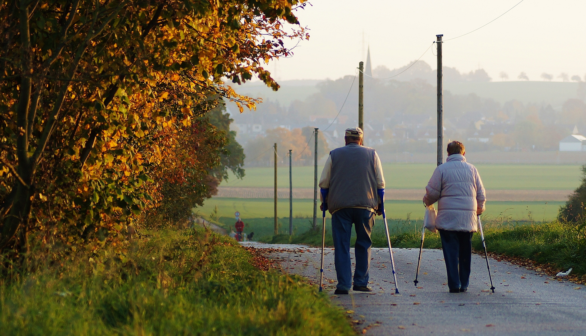
<path fill-rule="evenodd" d="M 431 153 L 437 150 L 435 71 L 422 61 L 408 70 L 401 74 L 402 77 L 377 80 L 393 76 L 401 68 L 391 71 L 377 67 L 373 70 L 370 52 L 367 55 L 364 71 L 364 142 L 379 153 Z M 460 74 L 454 68 L 445 68 L 444 73 L 447 74 L 445 80 L 448 84 L 454 83 L 452 87 L 456 88 L 500 84 L 492 82 L 482 69 Z M 482 97 L 482 90 L 454 94 L 448 85 L 448 89 L 444 90 L 445 139 L 462 140 L 467 148 L 476 152 L 586 150 L 586 137 L 580 133 L 586 132 L 586 82 L 578 76 L 573 78 L 571 83 L 503 82 L 524 85 L 529 91 L 531 85 L 540 85 L 537 88 L 543 90 L 541 87 L 560 87 L 558 84 L 561 84 L 563 88 L 570 88 L 564 101 L 543 97 L 540 102 L 524 103 L 522 99 L 513 98 L 501 104 L 496 98 Z M 349 92 L 350 85 L 352 90 Z M 288 107 L 279 101 L 265 99 L 258 104 L 257 111 L 238 114 L 233 113 L 236 108 L 230 109 L 229 105 L 231 118 L 234 119 L 233 130 L 237 132 L 237 139 L 243 145 L 249 162 L 251 156 L 257 157 L 262 152 L 263 148 L 257 147 L 267 146 L 266 141 L 260 143 L 260 139 L 267 136 L 267 131 L 276 128 L 288 131 L 319 128 L 328 148 L 342 145 L 343 130 L 357 125 L 356 87 L 355 78 L 346 76 L 318 83 L 313 94 L 305 99 L 292 99 Z M 532 93 L 537 92 L 529 92 Z M 486 92 L 486 95 L 490 94 L 492 92 Z M 269 156 L 264 158 L 269 159 Z"/>

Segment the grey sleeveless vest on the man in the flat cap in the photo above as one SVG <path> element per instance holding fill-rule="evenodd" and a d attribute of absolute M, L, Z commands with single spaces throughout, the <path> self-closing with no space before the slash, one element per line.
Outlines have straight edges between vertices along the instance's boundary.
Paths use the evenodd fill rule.
<path fill-rule="evenodd" d="M 376 209 L 379 197 L 376 193 L 374 149 L 350 143 L 332 150 L 330 156 L 329 211 L 351 207 Z"/>

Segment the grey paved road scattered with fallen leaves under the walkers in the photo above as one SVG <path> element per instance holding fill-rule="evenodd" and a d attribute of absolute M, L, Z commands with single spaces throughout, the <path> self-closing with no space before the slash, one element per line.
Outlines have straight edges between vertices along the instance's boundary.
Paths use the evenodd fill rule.
<path fill-rule="evenodd" d="M 270 256 L 281 260 L 285 272 L 319 283 L 321 249 L 248 244 L 282 249 Z M 353 255 L 353 249 L 350 252 Z M 442 252 L 426 249 L 418 284 L 421 288 L 416 288 L 413 279 L 418 252 L 394 249 L 400 295 L 394 294 L 388 249 L 373 248 L 370 286 L 375 291 L 334 296 L 333 249 L 326 249 L 326 290 L 334 303 L 354 311 L 357 328 L 366 328 L 368 335 L 586 335 L 586 287 L 489 259 L 496 287 L 493 294 L 486 260 L 473 255 L 468 292 L 448 293 Z"/>

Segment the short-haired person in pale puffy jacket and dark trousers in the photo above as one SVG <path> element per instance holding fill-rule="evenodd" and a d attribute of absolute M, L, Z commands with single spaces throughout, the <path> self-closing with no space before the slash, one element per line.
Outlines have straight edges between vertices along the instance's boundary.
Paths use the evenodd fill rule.
<path fill-rule="evenodd" d="M 486 194 L 476 167 L 466 162 L 464 145 L 448 143 L 448 159 L 425 187 L 423 203 L 438 203 L 435 228 L 440 232 L 450 293 L 466 292 L 472 260 L 472 232 L 485 210 Z"/>

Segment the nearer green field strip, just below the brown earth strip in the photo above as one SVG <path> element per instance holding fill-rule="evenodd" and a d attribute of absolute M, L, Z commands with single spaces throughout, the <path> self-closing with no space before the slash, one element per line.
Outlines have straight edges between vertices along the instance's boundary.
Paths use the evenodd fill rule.
<path fill-rule="evenodd" d="M 513 220 L 553 220 L 557 217 L 557 210 L 563 202 L 489 202 L 486 206 L 487 217 L 511 217 Z M 273 217 L 273 203 L 268 198 L 210 198 L 203 207 L 195 208 L 200 215 L 208 217 L 217 206 L 218 214 L 224 218 L 234 218 L 234 212 L 239 211 L 244 221 L 247 218 Z M 412 220 L 423 218 L 424 207 L 420 201 L 385 201 L 384 208 L 388 218 Z M 293 217 L 312 217 L 314 214 L 312 200 L 294 200 Z M 326 212 L 329 218 L 329 213 Z M 318 209 L 318 217 L 321 217 Z M 277 203 L 277 217 L 289 217 L 289 201 L 280 199 Z"/>

